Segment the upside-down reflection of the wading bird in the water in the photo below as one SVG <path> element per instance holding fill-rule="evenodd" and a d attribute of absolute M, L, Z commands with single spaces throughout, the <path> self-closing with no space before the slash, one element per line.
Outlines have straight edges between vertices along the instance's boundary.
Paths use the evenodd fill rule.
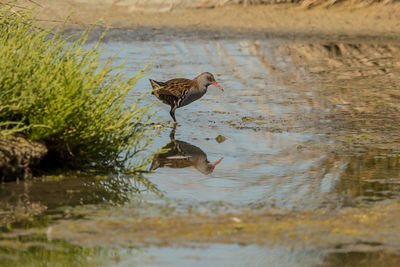
<path fill-rule="evenodd" d="M 170 168 L 193 166 L 203 174 L 210 174 L 214 171 L 215 166 L 222 161 L 221 158 L 214 163 L 210 163 L 207 160 L 207 154 L 197 146 L 175 140 L 175 127 L 171 131 L 170 138 L 171 141 L 163 147 L 163 149 L 168 149 L 168 151 L 154 157 L 150 170 L 164 166 Z"/>

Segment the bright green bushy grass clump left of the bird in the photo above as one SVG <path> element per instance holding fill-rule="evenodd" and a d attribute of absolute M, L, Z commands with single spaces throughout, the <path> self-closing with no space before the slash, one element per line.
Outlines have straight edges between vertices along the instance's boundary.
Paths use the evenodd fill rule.
<path fill-rule="evenodd" d="M 55 164 L 123 165 L 157 134 L 153 105 L 128 95 L 145 70 L 126 78 L 123 65 L 100 60 L 99 43 L 84 48 L 88 35 L 68 42 L 0 9 L 0 135 L 43 142 Z"/>

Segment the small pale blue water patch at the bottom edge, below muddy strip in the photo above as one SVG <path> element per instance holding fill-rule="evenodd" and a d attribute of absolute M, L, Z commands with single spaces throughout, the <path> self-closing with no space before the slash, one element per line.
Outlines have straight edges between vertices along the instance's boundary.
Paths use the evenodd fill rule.
<path fill-rule="evenodd" d="M 200 256 L 201 255 L 201 256 Z M 292 251 L 240 245 L 203 245 L 190 248 L 155 248 L 135 262 L 145 266 L 316 266 L 322 258 L 316 251 Z"/>

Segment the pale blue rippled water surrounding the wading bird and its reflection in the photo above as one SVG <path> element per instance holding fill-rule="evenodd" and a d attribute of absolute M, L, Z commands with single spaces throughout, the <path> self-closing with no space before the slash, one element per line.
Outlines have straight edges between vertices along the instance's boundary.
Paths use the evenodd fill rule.
<path fill-rule="evenodd" d="M 261 45 L 260 42 L 255 44 Z M 216 74 L 217 81 L 225 88 L 222 94 L 210 87 L 206 97 L 177 110 L 180 126 L 176 130 L 176 139 L 201 149 L 208 161 L 220 158 L 223 161 L 209 175 L 202 173 L 199 166 L 179 171 L 159 168 L 150 179 L 169 197 L 189 202 L 228 201 L 235 204 L 275 199 L 275 204 L 288 207 L 299 204 L 310 190 L 314 191 L 315 198 L 322 197 L 324 192 L 311 189 L 311 184 L 305 180 L 319 178 L 310 177 L 308 170 L 325 156 L 306 147 L 310 143 L 323 145 L 330 141 L 324 140 L 323 134 L 310 131 L 287 132 L 279 126 L 270 129 L 272 119 L 283 124 L 296 124 L 291 122 L 294 116 L 315 111 L 305 105 L 305 99 L 295 90 L 287 90 L 279 84 L 259 57 L 253 55 L 253 43 L 178 40 L 160 41 L 157 45 L 110 41 L 107 45 L 121 49 L 119 56 L 121 60 L 127 59 L 132 74 L 148 62 L 154 62 L 150 77 L 156 80 L 191 78 L 209 71 Z M 268 43 L 263 46 L 266 55 L 273 53 L 269 46 Z M 279 66 L 287 65 L 285 58 L 278 60 Z M 142 79 L 137 88 L 143 92 L 150 86 Z M 149 97 L 148 101 L 154 99 Z M 169 107 L 160 107 L 163 109 L 160 116 L 169 119 Z M 157 148 L 170 141 L 169 135 L 166 131 L 156 140 Z M 216 142 L 218 135 L 226 137 L 226 141 Z M 190 151 L 186 154 L 190 155 Z M 325 183 L 321 190 L 329 191 L 327 186 Z M 287 197 L 291 193 L 292 196 Z M 280 197 L 282 195 L 286 197 Z M 319 205 L 315 198 L 301 204 L 304 207 Z"/>

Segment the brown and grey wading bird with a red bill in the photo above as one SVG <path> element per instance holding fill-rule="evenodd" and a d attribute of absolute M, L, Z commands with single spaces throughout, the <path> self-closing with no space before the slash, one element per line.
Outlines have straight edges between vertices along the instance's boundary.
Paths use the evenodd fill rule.
<path fill-rule="evenodd" d="M 215 81 L 214 75 L 209 72 L 203 72 L 193 80 L 177 78 L 166 82 L 158 82 L 152 79 L 149 79 L 149 81 L 153 88 L 152 94 L 164 104 L 171 106 L 169 114 L 175 124 L 177 123 L 175 110 L 201 98 L 207 93 L 208 86 L 212 84 L 222 92 L 224 91 Z"/>

